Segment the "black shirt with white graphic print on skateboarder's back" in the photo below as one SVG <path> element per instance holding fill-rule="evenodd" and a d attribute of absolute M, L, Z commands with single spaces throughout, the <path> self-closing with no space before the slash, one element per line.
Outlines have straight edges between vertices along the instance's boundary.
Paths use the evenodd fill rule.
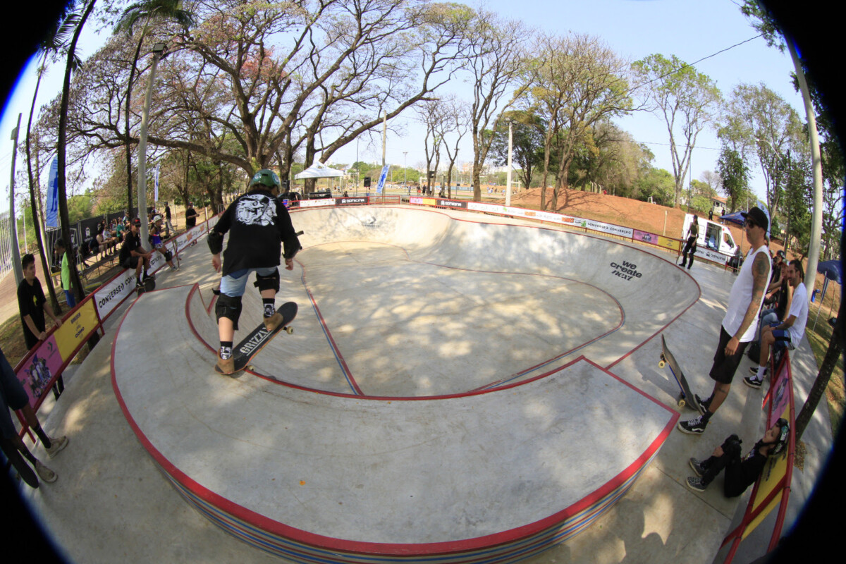
<path fill-rule="evenodd" d="M 266 189 L 239 196 L 212 230 L 229 233 L 223 276 L 245 268 L 279 266 L 283 240 L 296 238 L 288 209 Z"/>

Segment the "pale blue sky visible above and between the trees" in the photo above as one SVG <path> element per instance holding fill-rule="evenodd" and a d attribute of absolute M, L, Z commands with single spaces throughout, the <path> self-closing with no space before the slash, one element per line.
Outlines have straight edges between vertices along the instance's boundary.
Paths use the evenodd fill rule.
<path fill-rule="evenodd" d="M 694 63 L 756 35 L 743 14 L 740 14 L 739 0 L 487 0 L 484 4 L 505 18 L 522 19 L 527 25 L 541 30 L 562 34 L 573 31 L 599 36 L 620 57 L 629 61 L 651 53 L 662 53 Z M 99 41 L 89 30 L 80 43 L 82 57 L 94 52 Z M 733 87 L 741 82 L 763 83 L 787 100 L 805 119 L 801 97 L 790 84 L 789 74 L 793 65 L 788 54 L 774 47 L 766 47 L 766 42 L 761 38 L 732 47 L 696 63 L 695 67 L 714 79 L 724 96 L 728 96 Z M 61 86 L 61 74 L 59 66 L 52 68 L 42 83 L 39 103 L 56 95 Z M 8 186 L 11 163 L 12 141 L 9 135 L 18 112 L 23 112 L 21 119 L 25 124 L 34 87 L 35 64 L 30 64 L 28 71 L 19 80 L 19 86 L 0 122 L 0 182 L 3 186 Z M 408 117 L 398 118 L 397 122 L 405 125 L 405 134 L 402 137 L 388 135 L 387 161 L 402 164 L 403 152 L 408 151 L 409 167 L 416 166 L 424 158 L 420 125 L 413 112 L 408 112 Z M 650 147 L 655 154 L 654 166 L 672 172 L 668 134 L 662 118 L 638 112 L 618 120 L 618 125 L 632 134 L 635 140 Z M 25 125 L 21 129 L 23 134 Z M 692 159 L 693 178 L 699 178 L 702 172 L 714 169 L 719 149 L 717 136 L 711 129 L 700 134 L 696 145 Z M 353 162 L 355 151 L 355 144 L 348 145 L 333 156 L 332 162 Z M 459 153 L 459 162 L 469 161 L 470 151 L 468 143 Z M 359 158 L 362 161 L 381 162 L 381 144 L 369 146 L 362 140 Z M 20 159 L 17 167 L 21 167 Z M 753 188 L 762 195 L 763 179 L 756 169 L 753 172 Z M 5 210 L 8 209 L 8 191 L 4 189 L 0 192 L 2 194 L 5 196 L 0 197 L 0 210 Z"/>

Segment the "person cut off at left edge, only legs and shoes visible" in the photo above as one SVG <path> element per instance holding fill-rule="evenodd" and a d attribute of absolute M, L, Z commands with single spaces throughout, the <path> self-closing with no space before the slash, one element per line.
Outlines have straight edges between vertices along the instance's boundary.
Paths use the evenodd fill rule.
<path fill-rule="evenodd" d="M 3 350 L 0 349 L 0 446 L 2 446 L 3 452 L 9 458 L 11 458 L 10 455 L 13 455 L 14 450 L 17 449 L 32 464 L 33 468 L 36 469 L 36 474 L 38 474 L 39 478 L 48 484 L 55 482 L 57 478 L 56 473 L 34 457 L 26 447 L 24 441 L 21 440 L 12 422 L 9 409 L 20 411 L 24 414 L 26 424 L 30 425 L 30 429 L 35 431 L 38 438 L 41 439 L 41 444 L 47 450 L 48 457 L 52 458 L 56 456 L 65 446 L 68 446 L 68 437 L 63 436 L 53 439 L 47 436 L 47 433 L 41 429 L 41 422 L 38 420 L 35 410 L 30 405 L 30 398 L 26 396 L 24 386 L 21 385 L 18 377 L 14 374 L 14 370 L 12 370 L 12 365 L 8 364 Z"/>

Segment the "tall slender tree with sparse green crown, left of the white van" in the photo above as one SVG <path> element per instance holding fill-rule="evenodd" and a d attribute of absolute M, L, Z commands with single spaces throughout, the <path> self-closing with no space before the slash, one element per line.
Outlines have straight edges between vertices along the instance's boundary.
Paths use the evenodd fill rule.
<path fill-rule="evenodd" d="M 678 205 L 696 137 L 714 122 L 722 95 L 713 79 L 675 55 L 650 55 L 633 63 L 632 69 L 651 112 L 664 118 L 667 125 L 675 179 L 673 205 Z M 677 135 L 683 143 L 679 144 Z"/>

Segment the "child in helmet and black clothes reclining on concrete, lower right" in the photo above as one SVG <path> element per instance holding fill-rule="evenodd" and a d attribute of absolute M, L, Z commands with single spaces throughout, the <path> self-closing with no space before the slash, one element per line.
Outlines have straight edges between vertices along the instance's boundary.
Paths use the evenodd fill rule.
<path fill-rule="evenodd" d="M 776 424 L 766 430 L 761 440 L 755 443 L 752 450 L 742 460 L 740 458 L 740 441 L 738 435 L 729 435 L 722 445 L 717 446 L 711 457 L 706 460 L 690 458 L 690 468 L 696 476 L 689 476 L 687 485 L 691 490 L 705 491 L 717 474 L 725 469 L 725 484 L 722 493 L 726 497 L 737 497 L 746 488 L 755 484 L 761 475 L 767 457 L 776 456 L 783 452 L 788 444 L 790 424 L 786 419 L 778 419 Z"/>

